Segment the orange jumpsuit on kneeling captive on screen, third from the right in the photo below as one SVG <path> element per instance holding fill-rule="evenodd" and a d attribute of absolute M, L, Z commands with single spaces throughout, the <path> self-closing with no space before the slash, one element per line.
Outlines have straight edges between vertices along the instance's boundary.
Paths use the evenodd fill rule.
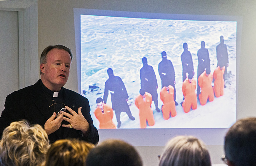
<path fill-rule="evenodd" d="M 192 78 L 192 82 L 189 82 L 187 78 L 182 85 L 182 92 L 185 97 L 184 102 L 182 103 L 182 107 L 185 113 L 188 113 L 192 107 L 192 109 L 197 108 L 197 99 L 196 99 L 196 81 Z"/>

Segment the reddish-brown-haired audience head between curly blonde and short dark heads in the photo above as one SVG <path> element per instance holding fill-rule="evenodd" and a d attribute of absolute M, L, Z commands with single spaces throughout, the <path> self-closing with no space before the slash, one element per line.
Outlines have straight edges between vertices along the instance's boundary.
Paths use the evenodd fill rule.
<path fill-rule="evenodd" d="M 46 166 L 86 166 L 86 157 L 93 144 L 78 139 L 60 139 L 51 144 Z"/>

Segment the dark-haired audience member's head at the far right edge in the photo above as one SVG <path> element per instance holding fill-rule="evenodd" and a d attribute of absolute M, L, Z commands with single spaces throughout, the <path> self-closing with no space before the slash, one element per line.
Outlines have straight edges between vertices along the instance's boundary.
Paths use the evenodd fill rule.
<path fill-rule="evenodd" d="M 238 120 L 230 127 L 224 143 L 228 165 L 256 165 L 256 117 Z"/>

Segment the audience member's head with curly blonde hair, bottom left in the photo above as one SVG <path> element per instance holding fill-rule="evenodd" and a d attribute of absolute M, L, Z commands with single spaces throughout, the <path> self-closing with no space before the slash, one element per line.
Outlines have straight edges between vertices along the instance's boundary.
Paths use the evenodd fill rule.
<path fill-rule="evenodd" d="M 25 120 L 12 122 L 0 141 L 0 165 L 41 165 L 48 148 L 48 136 L 40 125 L 30 126 Z"/>

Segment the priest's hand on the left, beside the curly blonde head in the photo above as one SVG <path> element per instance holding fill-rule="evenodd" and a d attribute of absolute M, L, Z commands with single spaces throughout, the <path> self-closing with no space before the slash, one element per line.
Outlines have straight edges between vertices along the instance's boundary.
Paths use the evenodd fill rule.
<path fill-rule="evenodd" d="M 50 135 L 54 133 L 56 130 L 58 130 L 61 127 L 61 122 L 63 121 L 63 113 L 61 113 L 56 118 L 56 112 L 53 113 L 51 118 L 49 118 L 45 123 L 45 131 L 47 135 Z M 56 119 L 55 119 L 56 118 Z"/>

